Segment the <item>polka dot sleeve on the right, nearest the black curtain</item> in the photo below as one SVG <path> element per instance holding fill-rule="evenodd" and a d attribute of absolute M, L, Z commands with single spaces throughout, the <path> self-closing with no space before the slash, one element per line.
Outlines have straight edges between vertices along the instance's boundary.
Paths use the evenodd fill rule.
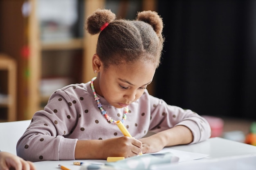
<path fill-rule="evenodd" d="M 193 133 L 191 144 L 209 139 L 211 127 L 204 117 L 189 109 L 166 104 L 162 99 L 150 96 L 151 121 L 150 131 L 160 132 L 174 126 L 183 125 Z"/>

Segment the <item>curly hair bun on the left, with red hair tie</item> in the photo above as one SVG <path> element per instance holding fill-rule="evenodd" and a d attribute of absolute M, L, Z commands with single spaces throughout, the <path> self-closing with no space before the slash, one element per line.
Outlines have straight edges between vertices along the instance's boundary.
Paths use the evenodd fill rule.
<path fill-rule="evenodd" d="M 94 35 L 101 31 L 101 26 L 106 22 L 110 23 L 116 19 L 115 13 L 109 9 L 97 9 L 94 13 L 88 16 L 85 29 L 88 33 Z"/>

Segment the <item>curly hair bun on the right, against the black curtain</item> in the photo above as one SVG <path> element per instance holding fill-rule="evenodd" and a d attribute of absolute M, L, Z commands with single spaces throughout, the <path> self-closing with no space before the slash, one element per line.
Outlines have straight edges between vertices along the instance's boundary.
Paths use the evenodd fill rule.
<path fill-rule="evenodd" d="M 155 11 L 142 11 L 137 13 L 137 20 L 150 24 L 158 36 L 162 35 L 163 20 Z"/>

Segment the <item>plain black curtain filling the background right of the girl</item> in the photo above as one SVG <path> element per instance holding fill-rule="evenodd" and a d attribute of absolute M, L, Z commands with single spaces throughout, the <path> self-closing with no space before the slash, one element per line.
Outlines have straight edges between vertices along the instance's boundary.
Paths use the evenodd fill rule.
<path fill-rule="evenodd" d="M 256 119 L 256 1 L 159 0 L 155 96 L 199 115 Z"/>

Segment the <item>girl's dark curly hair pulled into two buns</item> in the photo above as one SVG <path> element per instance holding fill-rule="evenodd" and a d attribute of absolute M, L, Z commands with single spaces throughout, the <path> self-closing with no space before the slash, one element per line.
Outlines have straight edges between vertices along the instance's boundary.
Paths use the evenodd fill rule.
<path fill-rule="evenodd" d="M 108 23 L 102 31 L 101 27 Z M 104 67 L 123 62 L 146 60 L 159 66 L 164 37 L 163 21 L 155 11 L 137 13 L 136 20 L 116 19 L 108 9 L 97 9 L 88 16 L 85 29 L 99 34 L 96 53 Z"/>

